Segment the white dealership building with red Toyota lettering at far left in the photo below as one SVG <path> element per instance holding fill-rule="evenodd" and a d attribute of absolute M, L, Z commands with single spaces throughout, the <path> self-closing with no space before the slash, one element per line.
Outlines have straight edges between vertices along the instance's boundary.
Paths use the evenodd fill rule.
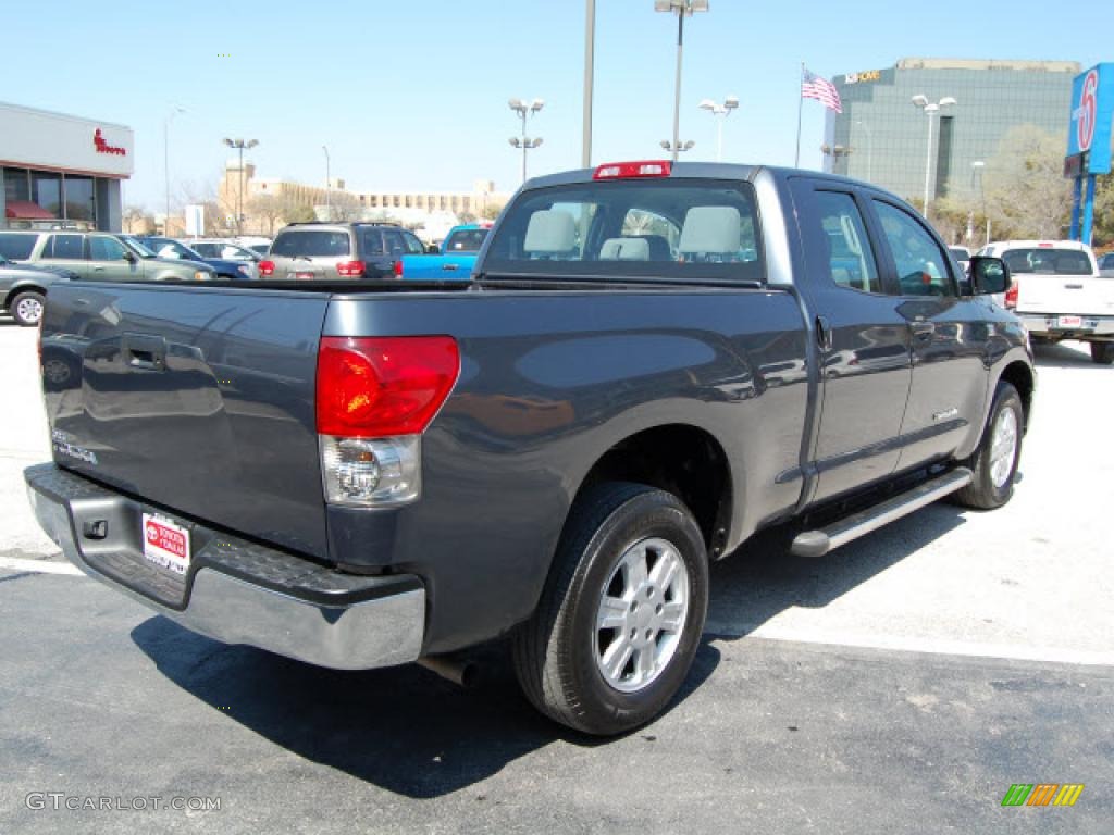
<path fill-rule="evenodd" d="M 131 128 L 0 101 L 0 228 L 118 232 Z"/>

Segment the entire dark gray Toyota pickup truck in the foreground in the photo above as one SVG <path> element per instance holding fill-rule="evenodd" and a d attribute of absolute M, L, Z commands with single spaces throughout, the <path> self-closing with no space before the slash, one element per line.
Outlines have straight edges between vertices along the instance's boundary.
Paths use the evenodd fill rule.
<path fill-rule="evenodd" d="M 821 558 L 1013 492 L 1035 374 L 1008 269 L 861 183 L 629 163 L 527 183 L 469 282 L 52 288 L 53 462 L 82 570 L 222 641 L 460 674 L 509 638 L 592 734 L 687 675 L 709 562 Z"/>

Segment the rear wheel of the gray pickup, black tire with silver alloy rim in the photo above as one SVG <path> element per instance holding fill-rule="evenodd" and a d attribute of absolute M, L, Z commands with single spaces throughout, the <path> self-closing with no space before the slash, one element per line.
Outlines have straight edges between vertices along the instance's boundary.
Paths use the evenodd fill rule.
<path fill-rule="evenodd" d="M 673 493 L 626 482 L 588 489 L 569 513 L 534 616 L 511 641 L 522 691 L 586 734 L 645 725 L 688 674 L 707 584 L 704 539 Z"/>

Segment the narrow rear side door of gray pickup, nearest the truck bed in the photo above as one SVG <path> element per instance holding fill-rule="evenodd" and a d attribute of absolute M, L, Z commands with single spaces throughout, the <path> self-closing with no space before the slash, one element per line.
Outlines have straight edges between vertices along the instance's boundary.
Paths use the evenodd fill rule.
<path fill-rule="evenodd" d="M 791 180 L 820 343 L 821 416 L 811 455 L 820 501 L 889 475 L 909 396 L 909 327 L 851 186 Z"/>

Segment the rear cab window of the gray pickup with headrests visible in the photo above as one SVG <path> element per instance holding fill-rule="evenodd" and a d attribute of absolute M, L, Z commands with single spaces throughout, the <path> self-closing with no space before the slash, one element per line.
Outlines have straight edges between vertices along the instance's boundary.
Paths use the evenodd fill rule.
<path fill-rule="evenodd" d="M 655 178 L 551 186 L 506 210 L 488 275 L 762 282 L 753 188 Z"/>

